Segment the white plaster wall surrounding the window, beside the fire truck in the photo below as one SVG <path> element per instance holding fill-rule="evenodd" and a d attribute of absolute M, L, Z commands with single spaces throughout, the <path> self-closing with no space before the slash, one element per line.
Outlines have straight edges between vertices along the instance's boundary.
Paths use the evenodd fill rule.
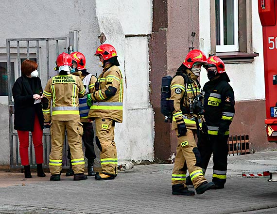
<path fill-rule="evenodd" d="M 207 56 L 210 52 L 209 16 L 207 15 L 208 2 L 200 4 L 200 49 Z M 258 14 L 258 1 L 252 1 L 252 42 L 254 52 L 259 53 L 252 63 L 225 64 L 226 72 L 231 79 L 230 85 L 235 92 L 236 101 L 264 99 L 264 68 L 262 27 Z M 201 85 L 208 81 L 205 69 L 202 69 Z"/>

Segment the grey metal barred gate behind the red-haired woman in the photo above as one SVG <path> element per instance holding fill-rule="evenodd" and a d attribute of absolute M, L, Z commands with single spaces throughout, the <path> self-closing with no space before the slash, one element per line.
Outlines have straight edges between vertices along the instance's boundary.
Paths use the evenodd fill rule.
<path fill-rule="evenodd" d="M 69 45 L 69 42 L 73 45 Z M 77 31 L 69 32 L 68 37 L 57 38 L 31 38 L 31 39 L 6 39 L 7 46 L 7 73 L 9 92 L 9 140 L 10 140 L 10 167 L 23 168 L 19 155 L 19 140 L 17 131 L 14 130 L 14 100 L 12 87 L 15 80 L 21 76 L 20 66 L 25 59 L 34 60 L 38 64 L 37 71 L 42 82 L 42 88 L 46 85 L 51 76 L 57 74 L 54 68 L 57 56 L 62 52 L 71 53 L 77 51 Z M 12 69 L 13 66 L 13 69 Z M 46 71 L 46 72 L 45 72 Z M 44 167 L 48 167 L 49 153 L 51 149 L 50 130 L 43 130 Z M 69 166 L 66 157 L 67 142 L 63 151 L 63 167 Z M 29 133 L 29 162 L 35 167 L 35 151 L 32 143 L 32 134 Z"/>

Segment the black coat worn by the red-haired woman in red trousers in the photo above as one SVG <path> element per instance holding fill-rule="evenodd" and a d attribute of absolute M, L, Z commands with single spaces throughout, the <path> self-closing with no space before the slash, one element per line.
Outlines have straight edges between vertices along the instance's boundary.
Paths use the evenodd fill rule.
<path fill-rule="evenodd" d="M 31 85 L 32 88 L 31 88 Z M 32 90 L 33 89 L 33 90 Z M 20 131 L 34 131 L 35 114 L 43 129 L 43 113 L 41 103 L 34 104 L 34 94 L 41 93 L 41 81 L 39 77 L 20 76 L 13 87 L 15 101 L 15 129 Z"/>

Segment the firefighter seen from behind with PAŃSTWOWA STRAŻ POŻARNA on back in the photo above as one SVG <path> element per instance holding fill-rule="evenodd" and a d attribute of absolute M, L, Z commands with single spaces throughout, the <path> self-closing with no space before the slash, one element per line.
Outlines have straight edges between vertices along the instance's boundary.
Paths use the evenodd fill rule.
<path fill-rule="evenodd" d="M 60 181 L 62 154 L 67 130 L 71 152 L 71 164 L 74 181 L 85 180 L 85 159 L 82 150 L 83 127 L 80 122 L 79 97 L 85 95 L 86 89 L 78 76 L 70 74 L 72 57 L 62 53 L 56 61 L 59 74 L 48 80 L 43 91 L 43 113 L 45 124 L 51 125 L 51 153 L 49 168 L 50 181 Z M 52 117 L 50 107 L 52 101 Z"/>

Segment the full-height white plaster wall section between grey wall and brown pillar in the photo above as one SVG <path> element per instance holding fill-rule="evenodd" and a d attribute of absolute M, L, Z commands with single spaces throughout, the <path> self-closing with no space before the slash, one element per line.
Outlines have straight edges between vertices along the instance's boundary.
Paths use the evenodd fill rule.
<path fill-rule="evenodd" d="M 107 4 L 109 7 L 107 7 Z M 119 163 L 154 161 L 154 115 L 149 100 L 148 37 L 125 38 L 126 34 L 149 34 L 151 0 L 96 0 L 100 31 L 105 43 L 117 50 L 124 78 L 123 123 L 116 123 L 115 141 Z"/>

